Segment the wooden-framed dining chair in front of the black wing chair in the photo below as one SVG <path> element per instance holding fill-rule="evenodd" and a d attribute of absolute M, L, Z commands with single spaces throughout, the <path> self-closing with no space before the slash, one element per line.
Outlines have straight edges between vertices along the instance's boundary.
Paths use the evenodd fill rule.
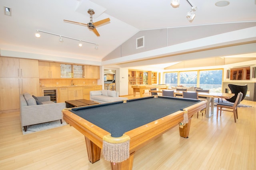
<path fill-rule="evenodd" d="M 221 116 L 222 111 L 230 111 L 230 112 L 233 112 L 235 123 L 236 123 L 236 119 L 238 119 L 237 105 L 240 104 L 242 97 L 243 97 L 242 92 L 239 92 L 237 94 L 236 101 L 234 103 L 226 103 L 226 102 L 218 103 L 217 104 L 217 119 L 218 119 L 219 110 L 220 110 L 220 116 Z"/>

